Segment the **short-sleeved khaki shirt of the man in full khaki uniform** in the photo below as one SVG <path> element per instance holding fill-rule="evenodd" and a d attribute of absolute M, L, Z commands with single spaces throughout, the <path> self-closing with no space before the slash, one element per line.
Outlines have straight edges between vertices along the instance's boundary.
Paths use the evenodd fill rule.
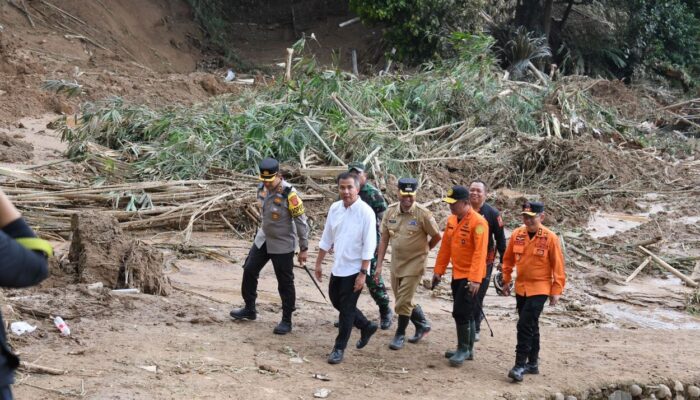
<path fill-rule="evenodd" d="M 384 213 L 382 237 L 387 235 L 391 245 L 391 270 L 398 276 L 422 275 L 428 258 L 428 242 L 440 234 L 433 213 L 418 203 L 408 212 L 394 203 Z"/>

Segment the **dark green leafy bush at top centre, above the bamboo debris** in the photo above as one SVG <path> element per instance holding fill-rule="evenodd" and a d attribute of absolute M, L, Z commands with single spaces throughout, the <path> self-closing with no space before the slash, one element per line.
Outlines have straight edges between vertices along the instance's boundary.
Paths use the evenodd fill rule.
<path fill-rule="evenodd" d="M 485 0 L 350 0 L 363 21 L 385 25 L 384 36 L 396 57 L 419 62 L 449 53 L 450 35 L 474 31 Z"/>

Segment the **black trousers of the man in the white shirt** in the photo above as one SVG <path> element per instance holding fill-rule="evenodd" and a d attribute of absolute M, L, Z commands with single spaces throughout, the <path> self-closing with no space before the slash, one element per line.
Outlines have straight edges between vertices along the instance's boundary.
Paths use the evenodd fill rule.
<path fill-rule="evenodd" d="M 353 291 L 357 275 L 331 275 L 331 279 L 328 282 L 328 295 L 331 298 L 333 307 L 340 314 L 338 317 L 338 336 L 335 338 L 335 348 L 339 350 L 345 350 L 345 347 L 347 347 L 353 326 L 363 329 L 369 324 L 365 315 L 357 308 L 357 300 L 360 298 L 360 293 L 362 293 L 362 291 Z"/>

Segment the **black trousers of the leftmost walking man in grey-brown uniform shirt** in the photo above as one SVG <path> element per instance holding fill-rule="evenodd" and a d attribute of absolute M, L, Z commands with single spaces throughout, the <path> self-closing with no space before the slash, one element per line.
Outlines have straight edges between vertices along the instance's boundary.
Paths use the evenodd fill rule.
<path fill-rule="evenodd" d="M 291 318 L 295 308 L 296 291 L 294 290 L 294 253 L 268 254 L 267 244 L 258 249 L 255 244 L 250 248 L 248 258 L 243 264 L 243 283 L 241 294 L 246 307 L 255 308 L 258 297 L 258 277 L 268 261 L 272 260 L 277 276 L 277 291 L 282 299 L 282 315 Z"/>

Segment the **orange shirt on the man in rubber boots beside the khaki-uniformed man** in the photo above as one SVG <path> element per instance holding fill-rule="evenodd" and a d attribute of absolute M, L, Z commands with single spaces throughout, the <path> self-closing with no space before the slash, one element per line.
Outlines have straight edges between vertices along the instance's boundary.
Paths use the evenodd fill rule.
<path fill-rule="evenodd" d="M 478 212 L 470 208 L 459 222 L 456 215 L 450 215 L 435 260 L 435 273 L 444 274 L 452 261 L 452 279 L 481 282 L 486 276 L 488 246 L 489 225 Z"/>

